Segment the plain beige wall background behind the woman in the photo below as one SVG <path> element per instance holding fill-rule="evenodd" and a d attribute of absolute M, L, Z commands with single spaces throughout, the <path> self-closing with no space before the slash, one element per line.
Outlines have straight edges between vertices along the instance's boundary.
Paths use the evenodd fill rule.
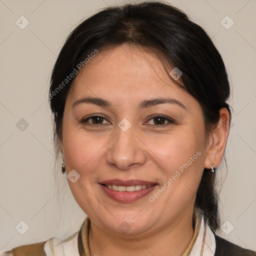
<path fill-rule="evenodd" d="M 0 0 L 0 250 L 53 236 L 62 239 L 77 231 L 85 218 L 60 166 L 59 175 L 54 174 L 46 99 L 49 77 L 75 25 L 99 8 L 124 2 L 128 1 Z M 233 119 L 226 147 L 227 176 L 225 166 L 218 171 L 224 223 L 219 235 L 256 250 L 256 1 L 169 2 L 206 29 L 227 66 Z M 29 21 L 24 29 L 15 24 L 21 15 Z M 229 29 L 220 23 L 226 15 L 234 21 Z M 20 126 L 23 120 L 16 126 L 21 118 L 28 127 Z M 15 228 L 21 220 L 29 226 L 23 235 Z M 25 224 L 21 226 L 24 231 Z"/>

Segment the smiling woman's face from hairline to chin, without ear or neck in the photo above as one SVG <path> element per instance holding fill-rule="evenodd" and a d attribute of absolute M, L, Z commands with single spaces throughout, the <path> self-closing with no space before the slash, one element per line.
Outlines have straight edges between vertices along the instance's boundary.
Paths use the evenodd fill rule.
<path fill-rule="evenodd" d="M 152 53 L 122 45 L 90 59 L 66 98 L 61 147 L 97 226 L 149 234 L 191 216 L 207 155 L 202 110 Z"/>

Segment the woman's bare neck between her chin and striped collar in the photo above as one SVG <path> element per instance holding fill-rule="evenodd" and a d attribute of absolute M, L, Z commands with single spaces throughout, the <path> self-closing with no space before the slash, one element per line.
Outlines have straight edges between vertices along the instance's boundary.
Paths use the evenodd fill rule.
<path fill-rule="evenodd" d="M 169 223 L 149 235 L 129 235 L 127 237 L 114 235 L 90 223 L 89 248 L 90 254 L 112 256 L 141 255 L 162 256 L 182 255 L 193 237 L 192 215 L 179 217 L 175 223 Z"/>

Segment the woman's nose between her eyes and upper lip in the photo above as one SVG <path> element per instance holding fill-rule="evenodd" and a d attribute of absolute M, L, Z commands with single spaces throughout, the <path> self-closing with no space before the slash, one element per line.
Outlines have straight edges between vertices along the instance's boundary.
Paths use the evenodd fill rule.
<path fill-rule="evenodd" d="M 116 130 L 107 145 L 107 163 L 122 170 L 143 165 L 146 162 L 144 144 L 138 139 L 132 126 L 126 131 L 117 126 Z"/>

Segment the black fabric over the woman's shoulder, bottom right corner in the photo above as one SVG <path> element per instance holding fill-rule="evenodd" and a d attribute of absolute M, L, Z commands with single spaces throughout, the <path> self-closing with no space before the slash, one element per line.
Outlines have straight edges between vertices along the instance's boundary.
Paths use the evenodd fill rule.
<path fill-rule="evenodd" d="M 244 249 L 235 245 L 215 234 L 216 249 L 215 256 L 230 255 L 230 256 L 256 256 L 256 252 Z"/>

